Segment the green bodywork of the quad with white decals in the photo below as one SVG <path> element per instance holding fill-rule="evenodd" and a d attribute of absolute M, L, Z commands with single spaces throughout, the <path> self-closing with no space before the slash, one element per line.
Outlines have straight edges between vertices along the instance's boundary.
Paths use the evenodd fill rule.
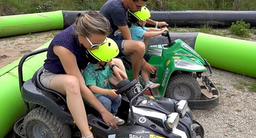
<path fill-rule="evenodd" d="M 161 86 L 155 92 L 154 97 L 164 97 L 168 81 L 173 72 L 203 72 L 207 70 L 204 67 L 205 61 L 198 53 L 181 39 L 176 39 L 172 46 L 155 45 L 149 46 L 146 55 L 150 55 L 148 63 L 157 68 L 156 80 L 153 82 L 160 83 Z M 191 63 L 188 66 L 188 63 Z M 127 70 L 129 79 L 132 79 L 131 70 Z M 143 84 L 143 83 L 142 83 Z"/>

